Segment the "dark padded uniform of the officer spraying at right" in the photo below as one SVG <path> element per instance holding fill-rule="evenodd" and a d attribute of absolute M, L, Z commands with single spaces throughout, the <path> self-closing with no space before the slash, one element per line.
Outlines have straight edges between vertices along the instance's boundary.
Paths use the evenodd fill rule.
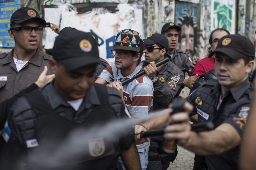
<path fill-rule="evenodd" d="M 242 137 L 253 91 L 253 85 L 246 79 L 228 90 L 218 107 L 221 93 L 220 84 L 216 85 L 216 81 L 209 80 L 188 97 L 188 101 L 194 106 L 191 115 L 198 114 L 199 122 L 212 121 L 215 127 L 222 123 L 228 123 Z M 211 170 L 237 169 L 238 151 L 239 146 L 220 155 L 206 156 L 207 166 Z"/>

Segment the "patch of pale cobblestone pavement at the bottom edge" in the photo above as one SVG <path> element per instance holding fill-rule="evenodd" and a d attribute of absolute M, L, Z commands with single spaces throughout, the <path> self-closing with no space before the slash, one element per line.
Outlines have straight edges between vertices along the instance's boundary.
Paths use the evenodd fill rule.
<path fill-rule="evenodd" d="M 167 170 L 192 170 L 194 166 L 193 152 L 190 152 L 181 146 L 178 146 L 178 155 L 174 162 L 170 164 Z"/>

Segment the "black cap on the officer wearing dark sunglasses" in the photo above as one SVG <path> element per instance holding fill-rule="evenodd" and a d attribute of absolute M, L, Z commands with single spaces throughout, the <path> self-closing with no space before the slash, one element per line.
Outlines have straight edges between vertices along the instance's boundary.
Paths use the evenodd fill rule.
<path fill-rule="evenodd" d="M 148 36 L 147 39 L 143 39 L 145 45 L 160 44 L 166 48 L 166 53 L 168 52 L 168 39 L 161 33 L 153 33 Z"/>

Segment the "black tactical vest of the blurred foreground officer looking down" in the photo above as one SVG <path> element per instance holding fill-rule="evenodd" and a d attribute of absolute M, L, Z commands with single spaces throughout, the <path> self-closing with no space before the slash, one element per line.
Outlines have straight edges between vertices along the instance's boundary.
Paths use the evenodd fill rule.
<path fill-rule="evenodd" d="M 28 93 L 25 97 L 37 115 L 34 123 L 36 133 L 30 140 L 21 143 L 10 137 L 6 146 L 2 147 L 6 149 L 5 156 L 17 152 L 17 148 L 23 155 L 20 162 L 12 162 L 8 156 L 11 160 L 8 163 L 17 163 L 19 169 L 28 170 L 116 169 L 116 159 L 120 155 L 118 135 L 114 140 L 101 137 L 100 131 L 99 135 L 88 133 L 93 137 L 86 135 L 93 128 L 94 132 L 98 132 L 95 127 L 102 127 L 118 117 L 109 104 L 107 88 L 98 84 L 94 86 L 101 105 L 93 107 L 81 123 L 54 114 L 39 90 Z M 3 153 L 1 155 L 4 158 Z M 2 164 L 1 169 L 7 164 Z"/>

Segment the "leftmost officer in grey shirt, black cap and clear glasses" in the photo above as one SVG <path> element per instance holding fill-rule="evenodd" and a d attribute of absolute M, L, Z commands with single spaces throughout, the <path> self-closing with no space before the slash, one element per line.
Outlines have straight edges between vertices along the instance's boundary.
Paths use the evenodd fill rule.
<path fill-rule="evenodd" d="M 22 7 L 12 14 L 8 33 L 15 47 L 0 54 L 0 102 L 31 85 L 44 66 L 49 67 L 50 55 L 38 49 L 45 24 L 33 8 Z"/>

